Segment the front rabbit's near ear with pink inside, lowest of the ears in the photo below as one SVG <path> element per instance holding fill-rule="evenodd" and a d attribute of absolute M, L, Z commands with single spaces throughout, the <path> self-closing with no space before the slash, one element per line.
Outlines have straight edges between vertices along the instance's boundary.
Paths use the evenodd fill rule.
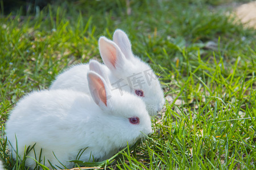
<path fill-rule="evenodd" d="M 102 109 L 108 108 L 111 94 L 105 80 L 94 71 L 88 72 L 87 79 L 90 95 L 94 102 Z"/>

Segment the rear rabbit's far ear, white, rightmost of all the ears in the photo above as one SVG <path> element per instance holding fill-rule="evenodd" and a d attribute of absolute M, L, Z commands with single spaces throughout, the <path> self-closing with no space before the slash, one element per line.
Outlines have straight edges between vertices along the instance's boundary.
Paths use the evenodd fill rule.
<path fill-rule="evenodd" d="M 133 57 L 133 52 L 131 51 L 131 42 L 125 32 L 123 32 L 121 29 L 115 30 L 113 40 L 115 44 L 119 46 L 127 59 Z"/>

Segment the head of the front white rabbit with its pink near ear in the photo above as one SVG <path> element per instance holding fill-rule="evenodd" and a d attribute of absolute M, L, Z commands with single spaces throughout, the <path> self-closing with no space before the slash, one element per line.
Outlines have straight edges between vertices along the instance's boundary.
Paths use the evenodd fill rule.
<path fill-rule="evenodd" d="M 133 145 L 144 134 L 151 133 L 150 116 L 147 113 L 144 102 L 137 96 L 124 92 L 110 90 L 110 84 L 106 83 L 101 75 L 94 71 L 87 74 L 90 94 L 94 102 L 102 109 L 105 117 L 104 129 L 108 129 L 104 140 L 110 139 L 113 146 L 125 147 L 127 142 Z"/>

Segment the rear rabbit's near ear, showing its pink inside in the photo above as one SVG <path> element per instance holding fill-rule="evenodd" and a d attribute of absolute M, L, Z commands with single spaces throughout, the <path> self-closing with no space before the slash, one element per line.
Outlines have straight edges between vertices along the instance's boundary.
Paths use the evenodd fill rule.
<path fill-rule="evenodd" d="M 101 58 L 110 70 L 116 70 L 123 67 L 123 65 L 126 63 L 126 58 L 117 44 L 106 39 L 106 37 L 100 37 L 98 44 Z"/>

